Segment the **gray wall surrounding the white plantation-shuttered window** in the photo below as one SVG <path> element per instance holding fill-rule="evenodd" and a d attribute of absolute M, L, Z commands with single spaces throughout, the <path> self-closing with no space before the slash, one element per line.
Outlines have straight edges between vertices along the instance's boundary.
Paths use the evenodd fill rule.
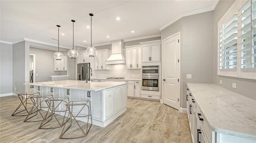
<path fill-rule="evenodd" d="M 214 9 L 213 17 L 213 82 L 216 85 L 224 87 L 226 89 L 232 90 L 234 92 L 240 93 L 244 96 L 256 99 L 256 80 L 253 79 L 243 79 L 237 77 L 226 77 L 219 76 L 217 73 L 217 48 L 218 48 L 218 21 L 227 12 L 227 10 L 232 6 L 235 0 L 220 0 Z M 219 84 L 222 80 L 222 85 Z M 232 88 L 232 83 L 236 83 L 237 89 Z"/>

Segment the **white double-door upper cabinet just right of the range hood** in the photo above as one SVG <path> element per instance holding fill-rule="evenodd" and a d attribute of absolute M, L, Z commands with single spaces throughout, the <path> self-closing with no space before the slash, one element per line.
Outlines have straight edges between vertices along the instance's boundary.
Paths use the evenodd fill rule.
<path fill-rule="evenodd" d="M 140 46 L 127 46 L 126 48 L 126 68 L 141 68 L 141 48 Z"/>

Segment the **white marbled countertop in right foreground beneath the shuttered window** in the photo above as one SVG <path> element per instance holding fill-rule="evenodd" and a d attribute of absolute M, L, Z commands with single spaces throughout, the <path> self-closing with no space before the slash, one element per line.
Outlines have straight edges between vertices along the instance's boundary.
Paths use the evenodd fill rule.
<path fill-rule="evenodd" d="M 212 131 L 256 140 L 256 100 L 214 84 L 187 85 Z"/>

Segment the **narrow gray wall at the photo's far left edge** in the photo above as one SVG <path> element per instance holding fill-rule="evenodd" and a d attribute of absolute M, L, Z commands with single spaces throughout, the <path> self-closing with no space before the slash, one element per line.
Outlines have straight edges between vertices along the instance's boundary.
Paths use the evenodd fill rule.
<path fill-rule="evenodd" d="M 0 44 L 0 94 L 12 93 L 12 44 Z"/>

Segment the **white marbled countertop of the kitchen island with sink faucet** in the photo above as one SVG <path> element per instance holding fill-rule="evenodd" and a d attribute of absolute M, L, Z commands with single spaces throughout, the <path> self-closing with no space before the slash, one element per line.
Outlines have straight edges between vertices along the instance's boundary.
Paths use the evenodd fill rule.
<path fill-rule="evenodd" d="M 50 87 L 64 87 L 69 89 L 82 89 L 89 91 L 100 91 L 111 87 L 127 84 L 126 82 L 88 82 L 81 80 L 58 80 L 30 83 L 31 85 L 42 85 Z"/>

